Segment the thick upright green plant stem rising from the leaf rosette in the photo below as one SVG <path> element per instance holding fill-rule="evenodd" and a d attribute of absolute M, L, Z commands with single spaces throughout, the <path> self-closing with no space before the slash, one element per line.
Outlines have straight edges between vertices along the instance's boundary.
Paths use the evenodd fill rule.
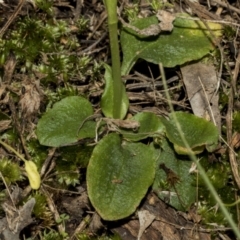
<path fill-rule="evenodd" d="M 117 0 L 105 0 L 108 13 L 108 29 L 110 49 L 112 58 L 112 79 L 113 79 L 113 117 L 120 118 L 121 103 L 123 96 L 123 83 L 121 79 L 121 64 L 118 45 L 118 18 Z"/>

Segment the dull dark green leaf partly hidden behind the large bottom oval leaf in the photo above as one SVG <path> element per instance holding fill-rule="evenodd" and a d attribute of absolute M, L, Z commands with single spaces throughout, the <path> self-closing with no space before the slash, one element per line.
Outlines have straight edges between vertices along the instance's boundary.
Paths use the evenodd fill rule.
<path fill-rule="evenodd" d="M 167 201 L 168 204 L 176 209 L 185 211 L 196 199 L 195 176 L 189 173 L 192 162 L 178 159 L 167 140 L 162 142 L 161 148 L 162 151 L 157 161 L 153 189 L 158 193 L 159 198 Z M 169 184 L 166 173 L 159 168 L 159 165 L 162 163 L 179 177 L 175 187 Z"/>

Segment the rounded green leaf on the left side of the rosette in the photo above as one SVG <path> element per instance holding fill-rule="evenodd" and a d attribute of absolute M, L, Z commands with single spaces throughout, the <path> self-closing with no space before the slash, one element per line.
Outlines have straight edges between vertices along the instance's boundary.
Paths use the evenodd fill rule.
<path fill-rule="evenodd" d="M 94 137 L 95 122 L 85 121 L 92 114 L 93 109 L 87 99 L 79 96 L 66 97 L 55 103 L 39 120 L 38 140 L 42 145 L 59 147 L 82 138 Z"/>

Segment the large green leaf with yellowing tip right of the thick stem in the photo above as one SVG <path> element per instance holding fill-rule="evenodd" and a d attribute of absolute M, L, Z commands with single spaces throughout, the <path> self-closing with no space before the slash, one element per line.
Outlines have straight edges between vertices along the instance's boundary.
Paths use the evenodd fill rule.
<path fill-rule="evenodd" d="M 181 17 L 187 18 L 188 15 L 181 14 L 174 21 L 171 33 L 163 32 L 157 37 L 140 38 L 136 33 L 133 34 L 132 30 L 124 29 L 121 33 L 122 75 L 128 74 L 139 58 L 155 64 L 161 62 L 164 67 L 175 67 L 200 59 L 215 48 L 212 36 L 203 22 Z M 147 28 L 151 24 L 158 24 L 155 16 L 133 23 L 139 29 Z M 221 35 L 220 24 L 208 23 L 208 26 L 216 37 Z"/>

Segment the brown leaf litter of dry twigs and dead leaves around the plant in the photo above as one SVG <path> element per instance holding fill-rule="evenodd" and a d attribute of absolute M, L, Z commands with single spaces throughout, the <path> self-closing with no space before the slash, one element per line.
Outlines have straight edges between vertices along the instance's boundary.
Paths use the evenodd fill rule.
<path fill-rule="evenodd" d="M 42 215 L 36 217 L 36 211 L 40 207 L 39 204 L 37 208 L 36 206 L 34 207 L 34 198 L 30 200 L 25 199 L 25 201 L 20 203 L 20 206 L 14 208 L 12 213 L 11 211 L 9 213 L 8 210 L 13 209 L 13 206 L 11 206 L 11 204 L 9 205 L 9 203 L 6 205 L 7 200 L 4 198 L 2 200 L 2 206 L 4 206 L 3 211 L 5 216 L 0 220 L 0 225 L 4 224 L 1 234 L 7 236 L 5 237 L 6 239 L 23 239 L 22 236 L 27 236 L 31 239 L 40 239 L 40 234 L 35 235 L 36 232 L 42 232 L 43 234 L 45 229 L 54 226 L 55 229 L 57 228 L 59 231 L 62 230 L 66 232 L 71 239 L 80 233 L 86 233 L 88 237 L 98 236 L 98 234 L 100 234 L 99 229 L 101 229 L 102 233 L 107 232 L 104 231 L 104 229 L 117 232 L 122 239 L 131 239 L 133 237 L 135 239 L 137 237 L 139 237 L 139 239 L 191 239 L 192 237 L 196 237 L 195 235 L 198 235 L 197 237 L 200 239 L 210 239 L 211 233 L 214 232 L 217 235 L 219 231 L 222 232 L 219 236 L 225 236 L 226 239 L 231 238 L 231 233 L 226 232 L 230 230 L 229 228 L 220 228 L 220 226 L 216 224 L 215 229 L 208 230 L 204 227 L 204 224 L 201 225 L 204 217 L 199 217 L 195 210 L 190 209 L 187 213 L 188 215 L 184 218 L 182 217 L 185 216 L 183 212 L 176 211 L 172 207 L 169 207 L 167 199 L 165 202 L 161 201 L 156 197 L 156 194 L 152 192 L 146 195 L 139 210 L 143 212 L 146 211 L 154 217 L 141 231 L 139 231 L 139 228 L 142 224 L 139 223 L 138 219 L 134 219 L 134 216 L 125 219 L 124 222 L 117 222 L 115 226 L 111 223 L 103 222 L 99 220 L 97 213 L 92 215 L 91 211 L 94 209 L 91 208 L 86 200 L 87 187 L 84 178 L 84 169 L 81 167 L 81 164 L 76 164 L 76 166 L 73 164 L 74 170 L 67 170 L 69 173 L 77 172 L 77 176 L 80 179 L 79 183 L 67 185 L 64 180 L 59 183 L 59 178 L 56 177 L 58 173 L 55 170 L 55 166 L 60 161 L 59 159 L 61 159 L 60 152 L 56 151 L 53 155 L 50 153 L 48 155 L 47 152 L 51 152 L 52 149 L 42 148 L 36 144 L 36 136 L 32 131 L 35 129 L 40 114 L 44 113 L 45 110 L 49 109 L 64 96 L 75 95 L 76 92 L 80 95 L 87 96 L 93 103 L 95 112 L 99 112 L 99 99 L 102 95 L 104 84 L 102 81 L 103 66 L 100 63 L 101 61 L 106 62 L 109 60 L 109 49 L 106 47 L 108 46 L 106 13 L 102 1 L 98 0 L 77 0 L 74 3 L 72 1 L 53 1 L 51 2 L 52 6 L 48 6 L 47 2 L 42 2 L 46 5 L 43 4 L 43 6 L 40 7 L 38 5 L 36 6 L 34 1 L 28 2 L 22 0 L 19 2 L 0 2 L 2 28 L 0 31 L 2 35 L 0 44 L 3 44 L 2 41 L 7 38 L 14 38 L 14 35 L 11 35 L 11 33 L 14 31 L 15 34 L 17 33 L 18 28 L 20 29 L 21 26 L 17 24 L 21 23 L 21 20 L 25 17 L 45 21 L 46 25 L 47 18 L 63 20 L 70 29 L 70 32 L 67 33 L 66 31 L 65 35 L 63 34 L 59 39 L 54 40 L 62 44 L 60 49 L 57 49 L 58 46 L 54 45 L 52 46 L 53 52 L 41 52 L 44 47 L 47 47 L 46 43 L 43 49 L 38 50 L 40 52 L 36 55 L 37 57 L 34 58 L 34 64 L 31 66 L 28 65 L 31 61 L 29 59 L 26 61 L 21 59 L 21 54 L 14 48 L 13 52 L 7 51 L 11 49 L 11 47 L 6 47 L 6 52 L 1 52 L 3 57 L 0 59 L 2 79 L 0 86 L 0 130 L 2 138 L 18 148 L 22 154 L 31 157 L 37 156 L 37 158 L 39 158 L 37 162 L 38 167 L 41 167 L 41 162 L 45 160 L 48 160 L 49 164 L 48 168 L 45 168 L 41 174 L 44 176 L 44 179 L 43 186 L 39 191 L 41 194 L 47 196 L 46 201 L 40 201 L 44 206 L 42 207 L 42 209 L 44 209 L 42 210 Z M 225 3 L 215 0 L 211 2 L 199 2 L 184 0 L 181 1 L 180 4 L 176 1 L 173 7 L 176 12 L 179 12 L 181 8 L 181 10 L 190 13 L 193 18 L 198 17 L 206 20 L 206 22 L 209 20 L 217 20 L 224 24 L 224 22 L 237 21 L 237 14 L 239 14 L 239 11 L 237 11 L 239 9 L 239 3 L 237 1 L 232 1 L 231 5 L 224 5 Z M 130 0 L 119 1 L 119 4 L 125 4 L 125 8 L 128 11 L 134 7 L 133 2 Z M 125 8 L 123 8 L 121 16 L 126 14 L 127 11 Z M 50 9 L 51 11 L 49 11 Z M 149 3 L 143 1 L 141 7 L 139 7 L 138 16 L 146 17 L 153 15 L 153 12 Z M 83 18 L 81 18 L 81 16 L 83 16 Z M 173 20 L 174 18 L 169 20 L 170 25 L 167 27 L 168 31 L 171 31 L 171 23 Z M 228 132 L 227 141 L 230 149 L 232 147 L 237 151 L 239 148 L 239 134 L 237 131 L 234 132 L 232 130 L 235 126 L 232 126 L 231 114 L 239 110 L 237 108 L 239 104 L 237 98 L 239 94 L 239 86 L 237 85 L 239 64 L 238 61 L 236 61 L 236 56 L 238 57 L 239 55 L 237 53 L 239 36 L 237 32 L 231 32 L 231 28 L 234 29 L 233 25 L 224 24 L 224 26 L 226 26 L 226 36 L 221 42 L 221 47 L 226 49 L 227 53 L 225 53 L 223 57 L 224 67 L 222 69 L 222 75 L 219 75 L 221 72 L 217 71 L 218 64 L 216 64 L 218 60 L 222 58 L 221 56 L 219 59 L 216 59 L 215 63 L 209 64 L 208 66 L 200 63 L 187 63 L 180 68 L 177 66 L 166 69 L 166 76 L 168 91 L 171 93 L 171 101 L 175 110 L 192 111 L 197 116 L 209 118 L 213 122 L 215 121 L 219 129 L 222 126 L 226 127 Z M 64 28 L 64 24 L 62 27 Z M 163 26 L 161 28 L 165 29 Z M 27 37 L 29 33 L 30 32 L 26 32 L 24 37 Z M 24 41 L 24 38 L 22 38 L 22 41 Z M 47 42 L 47 39 L 38 39 L 39 45 L 41 41 L 44 43 L 44 41 Z M 230 47 L 232 45 L 233 47 Z M 31 53 L 31 49 L 33 48 L 27 49 L 27 47 L 30 47 L 30 44 L 22 46 L 23 54 L 27 54 L 28 51 L 29 54 Z M 220 54 L 222 54 L 221 49 L 219 49 L 219 51 Z M 64 71 L 68 65 L 64 65 L 65 60 L 61 61 L 61 58 L 55 58 L 59 54 L 66 54 L 67 56 L 77 55 L 78 58 L 82 58 L 82 61 L 85 61 L 86 64 L 73 64 L 74 68 L 68 68 L 67 71 Z M 86 56 L 89 57 L 90 60 L 87 59 Z M 83 57 L 85 57 L 85 59 Z M 54 65 L 54 61 L 57 62 L 56 65 Z M 44 70 L 41 66 L 42 63 L 45 64 L 44 68 L 49 67 L 48 71 Z M 60 68 L 61 64 L 63 65 L 62 68 Z M 220 62 L 220 65 L 222 64 L 223 63 Z M 220 68 L 221 67 L 222 66 L 220 66 Z M 73 71 L 73 69 L 75 70 Z M 229 79 L 232 79 L 232 72 L 233 80 L 231 81 Z M 165 98 L 165 90 L 163 89 L 159 75 L 159 71 L 154 64 L 147 63 L 146 61 L 138 61 L 130 74 L 124 76 L 127 95 L 130 100 L 129 118 L 139 112 L 151 112 L 160 116 L 169 115 L 168 101 Z M 48 78 L 48 76 L 50 77 Z M 218 92 L 215 92 L 216 85 L 219 84 L 219 79 L 221 79 L 220 88 Z M 16 109 L 15 114 L 12 111 L 13 108 L 10 108 L 11 101 Z M 115 121 L 114 124 L 120 127 L 124 124 L 126 128 L 138 127 L 136 122 Z M 237 124 L 239 123 L 237 122 Z M 20 127 L 19 130 L 17 130 L 17 134 L 14 134 L 17 125 Z M 222 131 L 223 135 L 225 134 L 224 131 Z M 26 139 L 27 136 L 28 139 Z M 20 141 L 19 139 L 25 139 L 25 141 Z M 227 147 L 225 144 L 222 144 L 220 148 L 226 150 Z M 221 152 L 221 149 L 219 149 L 219 152 Z M 216 159 L 219 160 L 217 153 L 216 156 Z M 3 157 L 11 158 L 12 161 L 15 161 L 14 157 L 6 151 L 1 151 L 1 158 Z M 74 156 L 71 155 L 71 158 L 77 161 L 80 157 L 76 154 Z M 225 158 L 228 158 L 228 156 L 225 155 Z M 229 150 L 229 160 L 232 168 L 236 167 L 237 169 L 237 160 L 231 150 Z M 169 171 L 173 170 L 169 169 Z M 79 174 L 79 172 L 81 172 L 81 174 Z M 233 177 L 237 176 L 238 174 L 235 172 Z M 71 178 L 69 177 L 66 181 L 71 182 Z M 236 190 L 232 182 L 229 182 L 229 184 Z M 24 189 L 25 195 L 23 194 L 21 197 L 18 196 L 19 199 L 31 196 L 26 181 L 21 181 L 21 188 Z M 80 190 L 80 188 L 82 188 L 83 191 L 82 189 Z M 4 192 L 5 187 L 2 186 L 1 193 Z M 10 194 L 14 196 L 13 192 Z M 81 201 L 81 204 L 78 204 L 78 201 Z M 235 199 L 232 200 L 232 202 L 234 201 Z M 68 202 L 72 203 L 72 207 L 70 207 L 71 204 L 67 204 Z M 35 208 L 35 210 L 33 208 Z M 20 218 L 14 215 L 16 212 L 20 214 Z M 61 214 L 68 214 L 70 219 L 64 221 L 63 217 L 61 218 Z M 35 222 L 32 221 L 31 215 L 35 217 Z M 52 223 L 53 216 L 55 223 Z M 239 218 L 239 216 L 237 217 Z M 14 218 L 14 221 L 12 218 Z M 58 218 L 61 220 L 59 225 L 57 224 L 57 222 L 59 222 Z M 91 222 L 91 227 L 84 224 L 86 219 Z M 10 224 L 11 222 L 16 223 L 18 227 L 16 228 L 15 226 L 13 229 Z M 29 226 L 27 227 L 27 225 Z M 104 228 L 102 226 L 104 226 Z M 55 238 L 60 239 L 60 235 L 56 233 L 54 227 L 52 228 L 53 230 L 49 231 L 49 236 L 50 234 L 56 234 L 54 235 Z M 22 232 L 22 236 L 19 235 L 20 231 Z M 11 237 L 9 237 L 10 235 Z M 64 236 L 61 237 L 64 239 Z M 67 239 L 67 237 L 65 238 Z"/>

